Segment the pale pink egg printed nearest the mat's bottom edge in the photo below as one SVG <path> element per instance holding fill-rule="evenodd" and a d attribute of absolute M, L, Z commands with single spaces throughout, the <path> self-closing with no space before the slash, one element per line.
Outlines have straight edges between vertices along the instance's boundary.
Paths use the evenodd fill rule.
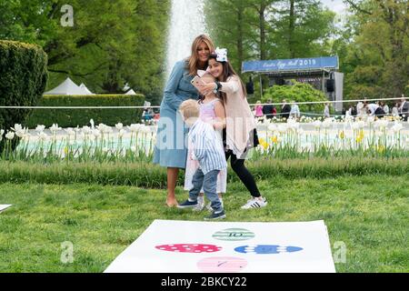
<path fill-rule="evenodd" d="M 197 262 L 197 267 L 204 273 L 237 273 L 247 266 L 247 261 L 241 257 L 213 256 Z"/>

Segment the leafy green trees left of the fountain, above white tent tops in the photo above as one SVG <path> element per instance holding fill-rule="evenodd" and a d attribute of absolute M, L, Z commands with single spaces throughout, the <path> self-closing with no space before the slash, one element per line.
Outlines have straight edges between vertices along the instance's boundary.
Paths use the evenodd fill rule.
<path fill-rule="evenodd" d="M 61 25 L 66 1 L 0 3 L 0 38 L 42 45 L 49 56 L 48 88 L 66 76 L 97 93 L 125 83 L 160 99 L 170 0 L 71 0 L 74 25 Z"/>

